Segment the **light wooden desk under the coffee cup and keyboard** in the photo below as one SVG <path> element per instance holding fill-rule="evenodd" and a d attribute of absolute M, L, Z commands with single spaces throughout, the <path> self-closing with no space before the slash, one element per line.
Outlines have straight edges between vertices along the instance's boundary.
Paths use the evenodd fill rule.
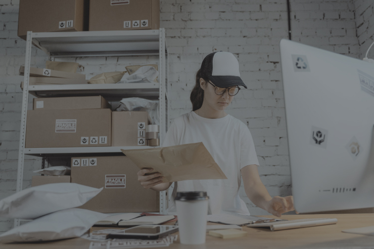
<path fill-rule="evenodd" d="M 274 216 L 261 216 L 274 218 Z M 353 248 L 374 247 L 374 237 L 343 233 L 349 228 L 374 226 L 374 214 L 323 214 L 323 215 L 283 215 L 283 219 L 308 219 L 308 218 L 337 218 L 335 225 L 291 229 L 271 232 L 266 229 L 243 227 L 248 235 L 234 239 L 219 239 L 206 236 L 206 243 L 198 246 L 182 245 L 178 241 L 170 245 L 168 249 L 321 249 L 321 248 Z M 174 225 L 168 224 L 168 225 Z M 209 223 L 213 225 L 213 223 Z M 214 224 L 217 225 L 217 224 Z M 101 230 L 104 228 L 95 228 Z M 37 244 L 0 244 L 1 249 L 88 249 L 90 241 L 76 238 L 55 242 Z"/>

